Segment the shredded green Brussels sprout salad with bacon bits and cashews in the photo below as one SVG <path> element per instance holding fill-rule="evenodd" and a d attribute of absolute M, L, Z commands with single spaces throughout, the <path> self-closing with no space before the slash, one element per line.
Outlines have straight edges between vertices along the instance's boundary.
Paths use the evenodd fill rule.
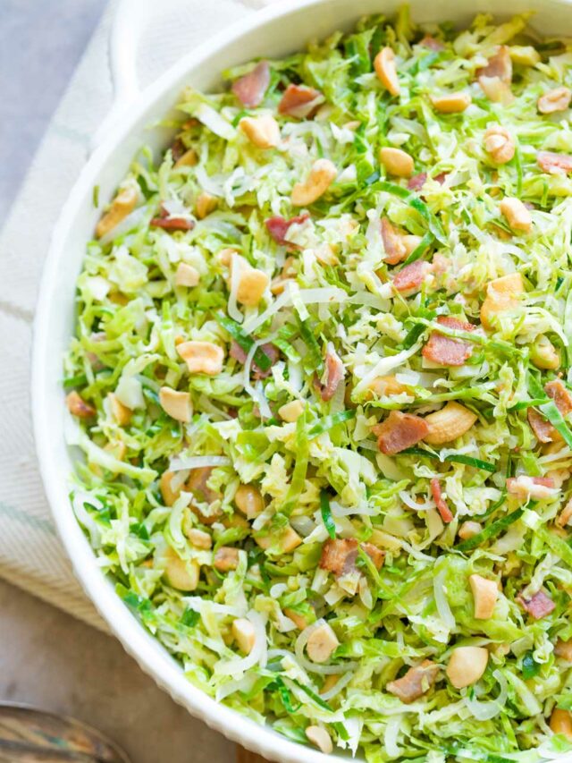
<path fill-rule="evenodd" d="M 77 518 L 189 682 L 325 753 L 572 749 L 572 44 L 527 22 L 237 66 L 94 194 Z"/>

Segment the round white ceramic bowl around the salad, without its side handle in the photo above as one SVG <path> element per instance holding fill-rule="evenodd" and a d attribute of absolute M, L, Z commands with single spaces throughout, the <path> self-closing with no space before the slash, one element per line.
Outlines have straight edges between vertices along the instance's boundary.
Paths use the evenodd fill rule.
<path fill-rule="evenodd" d="M 409 2 L 416 21 L 452 20 L 460 25 L 477 13 L 474 0 Z M 31 397 L 40 470 L 63 544 L 88 597 L 123 647 L 173 699 L 231 740 L 284 763 L 324 763 L 332 756 L 289 742 L 193 687 L 181 667 L 131 615 L 97 568 L 68 499 L 73 456 L 63 436 L 62 358 L 73 333 L 76 278 L 85 243 L 91 238 L 99 214 L 92 203 L 93 188 L 99 185 L 101 199 L 110 199 L 141 145 L 164 148 L 169 136 L 160 129 L 148 130 L 147 126 L 170 110 L 181 89 L 187 84 L 212 89 L 220 84 L 219 72 L 233 64 L 259 55 L 291 53 L 311 38 L 350 28 L 364 13 L 391 14 L 400 4 L 401 0 L 290 0 L 273 4 L 207 41 L 142 93 L 129 115 L 123 115 L 121 125 L 97 148 L 63 207 L 46 259 L 34 326 Z M 503 16 L 526 10 L 537 12 L 533 26 L 541 33 L 572 37 L 572 0 L 505 0 L 502 6 L 497 0 L 481 0 L 478 4 L 480 12 L 501 11 Z"/>

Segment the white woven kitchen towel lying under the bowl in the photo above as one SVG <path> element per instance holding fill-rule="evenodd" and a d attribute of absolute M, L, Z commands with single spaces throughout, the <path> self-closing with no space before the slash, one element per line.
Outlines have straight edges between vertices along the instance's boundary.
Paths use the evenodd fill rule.
<path fill-rule="evenodd" d="M 267 2 L 267 0 L 266 0 Z M 141 37 L 139 80 L 265 0 L 161 0 Z M 55 112 L 0 237 L 0 576 L 100 628 L 55 532 L 38 474 L 30 421 L 34 306 L 50 234 L 113 100 L 107 8 Z"/>

